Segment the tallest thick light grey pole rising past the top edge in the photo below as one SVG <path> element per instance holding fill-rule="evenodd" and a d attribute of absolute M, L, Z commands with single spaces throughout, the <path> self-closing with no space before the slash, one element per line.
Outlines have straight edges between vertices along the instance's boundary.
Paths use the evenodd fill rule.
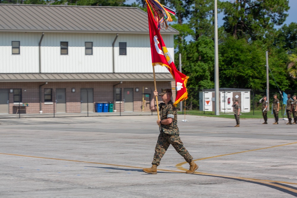
<path fill-rule="evenodd" d="M 219 110 L 218 1 L 217 0 L 214 0 L 214 93 L 215 93 L 215 115 L 220 115 L 220 110 Z"/>

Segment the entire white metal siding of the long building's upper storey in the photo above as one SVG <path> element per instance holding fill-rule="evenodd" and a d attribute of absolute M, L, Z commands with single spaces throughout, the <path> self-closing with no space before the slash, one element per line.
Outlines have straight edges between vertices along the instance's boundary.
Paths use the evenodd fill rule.
<path fill-rule="evenodd" d="M 41 42 L 41 72 L 113 72 L 112 42 L 116 34 L 47 33 Z M 162 35 L 174 58 L 173 35 Z M 0 33 L 1 73 L 38 73 L 41 33 Z M 20 41 L 20 55 L 12 55 L 11 41 Z M 68 42 L 68 55 L 60 55 L 60 42 Z M 93 55 L 85 55 L 85 42 L 93 42 Z M 119 56 L 119 42 L 127 42 L 127 56 Z M 119 34 L 114 47 L 115 72 L 152 72 L 149 34 Z M 155 72 L 168 72 L 156 66 Z"/>

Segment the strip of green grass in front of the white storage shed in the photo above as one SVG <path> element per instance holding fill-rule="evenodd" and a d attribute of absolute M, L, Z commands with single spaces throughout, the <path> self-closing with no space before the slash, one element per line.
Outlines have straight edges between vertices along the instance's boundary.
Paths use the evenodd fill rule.
<path fill-rule="evenodd" d="M 284 114 L 284 111 L 282 112 L 281 110 L 279 111 L 279 118 L 282 118 L 282 113 Z M 178 111 L 178 114 L 183 114 L 183 112 Z M 187 115 L 199 115 L 199 116 L 206 116 L 206 117 L 217 117 L 217 118 L 234 118 L 234 114 L 233 113 L 220 113 L 220 115 L 214 115 L 213 111 L 198 111 L 198 110 L 189 110 L 186 111 Z M 287 117 L 287 116 L 285 116 Z M 262 115 L 262 110 L 255 110 L 254 112 L 248 112 L 248 113 L 240 113 L 240 118 L 242 119 L 250 119 L 250 118 L 254 118 L 254 119 L 263 119 L 263 115 Z M 271 110 L 269 110 L 267 112 L 267 118 L 274 118 L 274 115 L 271 114 Z"/>

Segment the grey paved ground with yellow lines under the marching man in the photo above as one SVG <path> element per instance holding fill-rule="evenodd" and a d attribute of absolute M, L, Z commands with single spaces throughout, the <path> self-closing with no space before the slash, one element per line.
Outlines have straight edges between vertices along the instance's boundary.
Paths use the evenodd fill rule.
<path fill-rule="evenodd" d="M 181 140 L 151 167 L 156 115 L 0 119 L 0 197 L 297 197 L 297 125 L 187 115 Z"/>

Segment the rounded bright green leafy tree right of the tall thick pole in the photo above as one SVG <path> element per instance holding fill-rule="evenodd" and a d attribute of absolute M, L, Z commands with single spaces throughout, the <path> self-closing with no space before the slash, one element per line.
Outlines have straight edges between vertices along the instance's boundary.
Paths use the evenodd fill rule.
<path fill-rule="evenodd" d="M 246 39 L 231 36 L 219 45 L 220 87 L 262 89 L 266 85 L 265 53 Z"/>

